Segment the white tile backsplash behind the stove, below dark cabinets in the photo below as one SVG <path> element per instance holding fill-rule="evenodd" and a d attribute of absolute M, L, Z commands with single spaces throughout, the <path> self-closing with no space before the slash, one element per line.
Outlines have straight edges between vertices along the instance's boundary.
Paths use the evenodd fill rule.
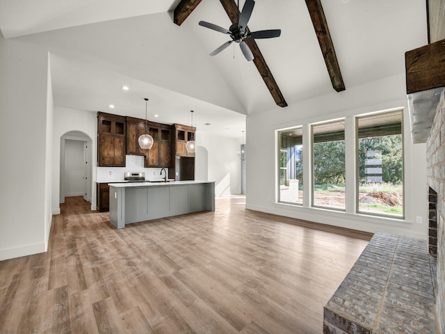
<path fill-rule="evenodd" d="M 125 172 L 145 173 L 145 180 L 161 179 L 162 168 L 144 168 L 144 157 L 125 156 L 125 167 L 97 167 L 96 182 L 119 182 L 124 180 Z M 168 168 L 165 168 L 168 175 Z M 162 173 L 163 175 L 163 173 Z"/>

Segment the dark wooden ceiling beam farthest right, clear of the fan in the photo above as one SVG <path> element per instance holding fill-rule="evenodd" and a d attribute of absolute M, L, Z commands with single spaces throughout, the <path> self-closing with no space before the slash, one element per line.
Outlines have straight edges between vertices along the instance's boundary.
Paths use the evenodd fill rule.
<path fill-rule="evenodd" d="M 327 72 L 329 72 L 332 87 L 337 90 L 337 92 L 341 92 L 341 90 L 345 90 L 346 88 L 343 83 L 343 78 L 341 77 L 339 62 L 335 55 L 334 44 L 332 43 L 332 38 L 327 27 L 321 0 L 306 0 L 306 6 L 309 10 L 312 24 L 314 24 L 321 53 L 323 54 L 323 58 L 325 58 Z"/>

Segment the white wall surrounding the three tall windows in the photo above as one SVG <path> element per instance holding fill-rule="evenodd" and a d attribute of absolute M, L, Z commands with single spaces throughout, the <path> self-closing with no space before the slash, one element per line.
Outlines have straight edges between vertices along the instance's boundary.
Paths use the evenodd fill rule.
<path fill-rule="evenodd" d="M 407 113 L 405 75 L 400 74 L 357 87 L 347 87 L 346 91 L 318 97 L 286 109 L 274 109 L 247 118 L 247 204 L 254 209 L 282 216 L 301 218 L 344 228 L 368 232 L 388 232 L 426 239 L 426 147 L 425 144 L 411 143 L 410 119 Z M 405 219 L 376 218 L 355 214 L 353 206 L 347 205 L 346 212 L 334 212 L 312 207 L 297 207 L 276 202 L 277 193 L 277 138 L 275 132 L 286 127 L 308 125 L 335 118 L 345 118 L 353 122 L 353 116 L 383 111 L 393 108 L 404 109 L 405 134 Z M 314 116 L 317 115 L 317 116 Z M 353 124 L 353 123 L 350 123 Z M 355 156 L 355 145 L 348 143 L 350 157 Z M 350 138 L 353 138 L 351 136 Z M 350 159 L 352 161 L 352 159 Z M 347 167 L 351 166 L 351 164 Z M 354 168 L 354 164 L 352 164 Z M 308 182 L 305 182 L 308 184 Z M 346 180 L 348 187 L 348 179 Z M 346 189 L 348 192 L 348 188 Z M 354 191 L 354 189 L 353 189 Z M 306 193 L 305 195 L 309 195 Z M 346 196 L 348 193 L 346 193 Z M 354 198 L 354 197 L 353 197 Z M 423 223 L 416 223 L 421 216 Z"/>

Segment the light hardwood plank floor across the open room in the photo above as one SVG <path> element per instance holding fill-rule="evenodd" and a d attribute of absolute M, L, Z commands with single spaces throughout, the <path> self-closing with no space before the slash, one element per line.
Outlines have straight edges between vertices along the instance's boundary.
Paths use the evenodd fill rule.
<path fill-rule="evenodd" d="M 371 234 L 292 225 L 244 200 L 117 230 L 66 198 L 47 253 L 0 262 L 0 333 L 322 333 Z"/>

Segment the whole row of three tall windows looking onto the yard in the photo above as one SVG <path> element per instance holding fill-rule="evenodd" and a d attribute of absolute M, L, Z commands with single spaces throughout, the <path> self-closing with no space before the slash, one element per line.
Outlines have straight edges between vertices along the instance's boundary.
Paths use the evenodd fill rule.
<path fill-rule="evenodd" d="M 278 202 L 403 218 L 403 110 L 348 116 L 347 121 L 346 127 L 345 119 L 337 119 L 277 132 Z M 305 150 L 303 133 L 311 138 Z M 346 162 L 348 173 L 354 173 L 348 184 Z M 304 178 L 310 181 L 306 198 Z"/>

